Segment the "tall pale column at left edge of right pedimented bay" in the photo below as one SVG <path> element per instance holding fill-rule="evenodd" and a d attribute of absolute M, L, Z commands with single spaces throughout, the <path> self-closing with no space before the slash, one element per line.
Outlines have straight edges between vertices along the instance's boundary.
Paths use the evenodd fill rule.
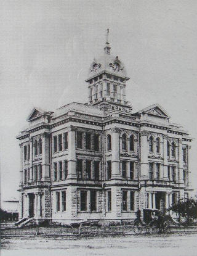
<path fill-rule="evenodd" d="M 140 178 L 148 178 L 148 131 L 140 133 Z"/>

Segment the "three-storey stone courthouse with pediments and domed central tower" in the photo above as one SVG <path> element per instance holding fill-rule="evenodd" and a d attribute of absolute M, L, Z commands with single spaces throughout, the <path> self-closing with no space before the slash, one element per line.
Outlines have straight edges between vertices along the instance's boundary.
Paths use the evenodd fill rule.
<path fill-rule="evenodd" d="M 188 197 L 187 131 L 159 104 L 132 112 L 126 67 L 110 50 L 107 39 L 90 65 L 87 103 L 34 108 L 17 136 L 20 219 L 127 221 Z"/>

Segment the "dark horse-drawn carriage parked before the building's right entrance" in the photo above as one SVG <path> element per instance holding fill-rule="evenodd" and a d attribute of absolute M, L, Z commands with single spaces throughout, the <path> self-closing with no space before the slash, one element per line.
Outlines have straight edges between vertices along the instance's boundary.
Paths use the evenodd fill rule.
<path fill-rule="evenodd" d="M 161 214 L 158 209 L 143 209 L 143 218 L 138 212 L 134 220 L 134 232 L 140 234 L 143 229 L 150 234 L 154 231 L 167 232 L 170 229 L 170 221 L 171 216 Z"/>

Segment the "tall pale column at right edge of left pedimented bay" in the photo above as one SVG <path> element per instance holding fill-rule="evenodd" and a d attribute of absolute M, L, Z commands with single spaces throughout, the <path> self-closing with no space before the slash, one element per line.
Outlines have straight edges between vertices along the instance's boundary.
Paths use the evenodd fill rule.
<path fill-rule="evenodd" d="M 42 134 L 42 181 L 50 181 L 50 134 Z"/>

